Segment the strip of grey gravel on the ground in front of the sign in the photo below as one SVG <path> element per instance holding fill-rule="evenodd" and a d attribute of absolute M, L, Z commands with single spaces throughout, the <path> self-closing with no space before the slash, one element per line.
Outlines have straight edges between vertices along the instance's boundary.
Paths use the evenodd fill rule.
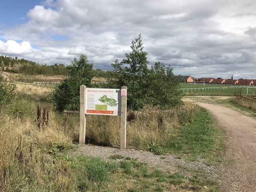
<path fill-rule="evenodd" d="M 149 168 L 157 168 L 164 172 L 175 173 L 179 172 L 186 176 L 192 176 L 191 173 L 183 170 L 182 167 L 190 168 L 192 170 L 205 171 L 204 176 L 208 179 L 217 180 L 219 176 L 218 168 L 215 166 L 207 166 L 202 160 L 197 162 L 185 162 L 178 159 L 174 155 L 157 156 L 151 152 L 133 149 L 119 149 L 111 147 L 78 145 L 78 149 L 73 152 L 74 155 L 85 154 L 89 157 L 101 157 L 109 159 L 110 156 L 119 154 L 124 157 L 137 158 L 140 162 L 146 163 Z M 164 158 L 161 158 L 164 157 Z"/>

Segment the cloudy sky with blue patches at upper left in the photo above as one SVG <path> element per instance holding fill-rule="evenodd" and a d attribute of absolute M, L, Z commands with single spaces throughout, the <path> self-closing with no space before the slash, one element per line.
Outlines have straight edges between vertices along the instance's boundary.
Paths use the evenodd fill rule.
<path fill-rule="evenodd" d="M 256 79 L 255 0 L 2 0 L 0 54 L 112 70 L 141 34 L 148 67 Z"/>

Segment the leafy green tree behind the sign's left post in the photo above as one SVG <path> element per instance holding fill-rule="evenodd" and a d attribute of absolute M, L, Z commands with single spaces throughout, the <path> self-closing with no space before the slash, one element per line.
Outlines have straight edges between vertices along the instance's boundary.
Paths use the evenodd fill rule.
<path fill-rule="evenodd" d="M 70 66 L 67 66 L 68 77 L 64 79 L 53 92 L 53 101 L 56 110 L 79 110 L 80 85 L 93 87 L 93 64 L 88 63 L 87 56 L 81 54 L 79 60 L 74 58 Z"/>

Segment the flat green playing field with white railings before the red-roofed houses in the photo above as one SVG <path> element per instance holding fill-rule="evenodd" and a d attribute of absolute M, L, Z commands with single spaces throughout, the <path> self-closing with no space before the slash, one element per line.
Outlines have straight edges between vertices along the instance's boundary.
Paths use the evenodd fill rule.
<path fill-rule="evenodd" d="M 256 88 L 256 86 L 254 86 Z M 247 95 L 247 89 L 240 85 L 223 85 L 223 84 L 180 84 L 180 89 L 185 95 L 213 95 L 213 96 L 234 96 L 240 95 L 242 88 L 242 95 Z M 248 95 L 256 95 L 256 89 L 248 88 Z M 249 90 L 250 89 L 250 90 Z"/>

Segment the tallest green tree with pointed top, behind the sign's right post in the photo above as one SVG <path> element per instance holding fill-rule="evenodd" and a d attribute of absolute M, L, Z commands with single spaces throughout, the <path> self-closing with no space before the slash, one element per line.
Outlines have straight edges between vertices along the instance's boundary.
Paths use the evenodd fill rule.
<path fill-rule="evenodd" d="M 122 62 L 116 60 L 112 64 L 114 67 L 114 85 L 116 88 L 127 86 L 128 107 L 138 110 L 143 107 L 147 98 L 148 53 L 143 51 L 141 34 L 139 34 L 138 38 L 132 40 L 130 47 L 132 52 L 126 53 L 126 58 Z"/>

